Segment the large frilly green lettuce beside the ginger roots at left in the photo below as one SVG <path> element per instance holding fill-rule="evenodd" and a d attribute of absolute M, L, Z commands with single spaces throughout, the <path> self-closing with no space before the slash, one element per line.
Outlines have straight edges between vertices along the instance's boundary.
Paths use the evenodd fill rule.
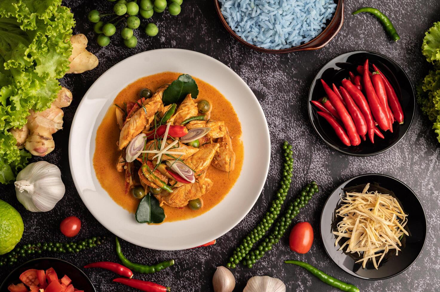
<path fill-rule="evenodd" d="M 50 107 L 69 70 L 73 14 L 61 0 L 0 1 L 0 183 L 15 179 L 31 156 L 18 150 L 11 128 L 29 110 Z"/>

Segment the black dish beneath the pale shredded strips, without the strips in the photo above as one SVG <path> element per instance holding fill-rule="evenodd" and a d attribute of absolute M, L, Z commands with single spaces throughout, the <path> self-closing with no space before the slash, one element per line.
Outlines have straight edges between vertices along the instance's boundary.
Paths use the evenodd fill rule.
<path fill-rule="evenodd" d="M 360 258 L 356 258 L 356 255 L 352 253 L 347 254 L 343 250 L 338 250 L 340 246 L 334 245 L 336 236 L 332 234 L 339 220 L 335 216 L 335 210 L 341 205 L 340 194 L 344 194 L 343 189 L 362 191 L 367 183 L 370 183 L 370 191 L 386 192 L 397 198 L 403 211 L 408 214 L 405 229 L 409 236 L 403 237 L 399 255 L 396 256 L 394 251 L 388 252 L 378 270 L 374 268 L 371 261 L 365 268 L 362 268 L 362 263 L 355 263 Z M 321 213 L 319 229 L 327 254 L 342 270 L 358 278 L 382 280 L 402 273 L 417 260 L 425 245 L 426 215 L 417 195 L 400 180 L 384 174 L 362 174 L 345 181 L 330 194 Z"/>

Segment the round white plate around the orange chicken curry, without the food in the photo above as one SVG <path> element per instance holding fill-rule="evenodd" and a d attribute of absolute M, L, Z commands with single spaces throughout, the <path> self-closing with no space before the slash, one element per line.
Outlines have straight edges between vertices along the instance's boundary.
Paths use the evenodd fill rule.
<path fill-rule="evenodd" d="M 242 124 L 244 161 L 234 187 L 213 209 L 189 220 L 160 225 L 139 224 L 132 213 L 110 198 L 96 178 L 93 169 L 96 130 L 124 87 L 143 76 L 164 71 L 198 77 L 216 87 L 231 102 Z M 260 196 L 269 160 L 268 124 L 252 90 L 220 61 L 189 50 L 150 50 L 114 65 L 84 95 L 70 130 L 70 170 L 84 204 L 104 227 L 118 237 L 150 249 L 189 249 L 231 230 Z"/>

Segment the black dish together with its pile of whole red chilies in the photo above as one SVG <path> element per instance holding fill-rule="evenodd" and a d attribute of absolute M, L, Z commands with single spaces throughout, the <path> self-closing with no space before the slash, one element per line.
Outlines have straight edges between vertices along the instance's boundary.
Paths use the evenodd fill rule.
<path fill-rule="evenodd" d="M 395 61 L 352 51 L 318 72 L 308 102 L 312 125 L 326 144 L 347 155 L 370 156 L 392 148 L 407 133 L 415 96 Z"/>

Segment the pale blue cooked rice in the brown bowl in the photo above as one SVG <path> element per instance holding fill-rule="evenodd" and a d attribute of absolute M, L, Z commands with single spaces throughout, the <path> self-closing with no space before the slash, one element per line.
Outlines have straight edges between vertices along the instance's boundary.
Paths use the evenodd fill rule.
<path fill-rule="evenodd" d="M 307 43 L 336 9 L 334 0 L 219 0 L 221 13 L 246 42 L 272 50 Z"/>

